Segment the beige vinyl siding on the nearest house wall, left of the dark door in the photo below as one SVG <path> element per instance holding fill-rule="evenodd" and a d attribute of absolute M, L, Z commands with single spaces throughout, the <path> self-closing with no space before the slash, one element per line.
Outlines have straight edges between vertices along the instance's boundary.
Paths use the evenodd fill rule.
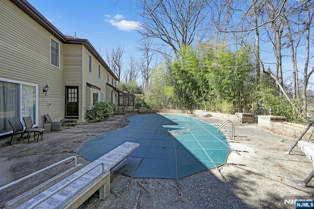
<path fill-rule="evenodd" d="M 64 117 L 63 44 L 8 0 L 0 1 L 0 77 L 38 85 L 38 122 Z M 50 37 L 60 44 L 60 68 L 50 64 Z M 47 96 L 43 87 L 48 84 Z"/>

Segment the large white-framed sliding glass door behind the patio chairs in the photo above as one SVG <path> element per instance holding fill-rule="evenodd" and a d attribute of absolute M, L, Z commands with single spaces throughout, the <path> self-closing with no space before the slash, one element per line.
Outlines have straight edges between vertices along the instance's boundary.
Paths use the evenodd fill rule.
<path fill-rule="evenodd" d="M 0 135 L 11 130 L 8 120 L 31 116 L 38 124 L 38 86 L 14 80 L 0 80 Z"/>

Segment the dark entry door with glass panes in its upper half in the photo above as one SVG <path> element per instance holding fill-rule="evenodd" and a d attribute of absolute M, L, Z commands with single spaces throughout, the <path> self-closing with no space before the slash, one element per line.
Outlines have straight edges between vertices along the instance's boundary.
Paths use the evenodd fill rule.
<path fill-rule="evenodd" d="M 66 117 L 78 117 L 78 87 L 66 87 Z"/>

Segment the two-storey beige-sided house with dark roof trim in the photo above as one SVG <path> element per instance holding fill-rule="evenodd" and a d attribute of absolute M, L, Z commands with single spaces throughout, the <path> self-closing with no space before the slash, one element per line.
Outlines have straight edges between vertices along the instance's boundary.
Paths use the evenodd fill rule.
<path fill-rule="evenodd" d="M 118 105 L 118 78 L 87 39 L 62 34 L 26 0 L 0 1 L 0 28 L 0 136 L 10 119 L 82 124 L 96 102 Z"/>

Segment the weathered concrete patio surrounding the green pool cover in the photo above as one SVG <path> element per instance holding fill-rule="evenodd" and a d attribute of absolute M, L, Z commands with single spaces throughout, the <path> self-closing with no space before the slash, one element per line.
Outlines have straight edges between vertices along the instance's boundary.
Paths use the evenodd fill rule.
<path fill-rule="evenodd" d="M 0 148 L 0 186 L 69 156 L 77 156 L 79 163 L 88 164 L 77 153 L 82 143 L 127 126 L 129 116 L 131 114 L 115 115 L 104 122 L 63 128 L 62 131 L 45 134 L 44 141 L 39 143 L 31 141 L 27 144 L 24 140 Z M 223 122 L 215 118 L 197 119 L 216 127 Z M 231 129 L 227 126 L 224 131 L 228 130 Z M 257 124 L 235 124 L 235 135 L 235 141 L 228 140 L 235 151 L 219 169 L 199 172 L 179 181 L 132 179 L 112 171 L 107 199 L 99 200 L 96 192 L 79 209 L 292 209 L 295 205 L 288 204 L 287 200 L 314 199 L 314 187 L 298 186 L 313 170 L 310 160 L 298 147 L 291 155 L 285 155 L 295 137 L 262 130 Z M 69 166 L 72 163 L 0 191 L 0 206 Z"/>

